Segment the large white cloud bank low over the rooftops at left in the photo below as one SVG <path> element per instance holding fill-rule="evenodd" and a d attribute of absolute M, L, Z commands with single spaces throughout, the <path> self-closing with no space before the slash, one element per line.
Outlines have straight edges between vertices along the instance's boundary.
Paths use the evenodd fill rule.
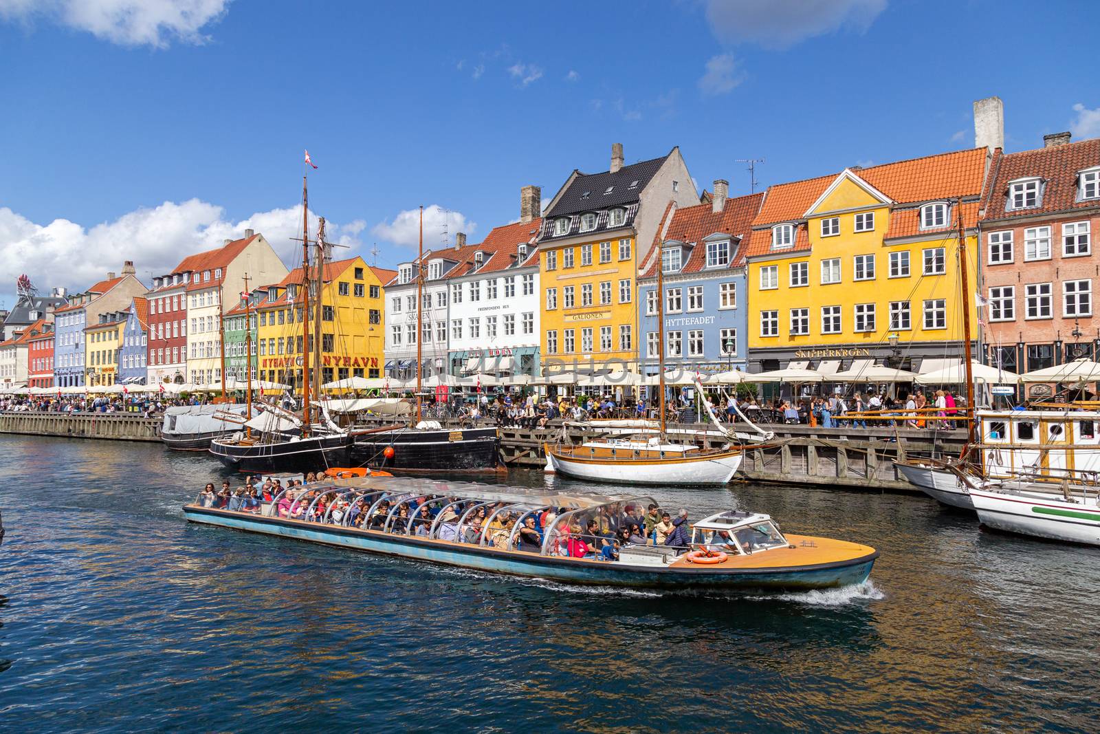
<path fill-rule="evenodd" d="M 345 226 L 328 222 L 326 239 L 355 249 L 365 228 L 366 222 L 360 219 Z M 54 286 L 81 291 L 108 271 L 120 271 L 124 260 L 132 260 L 138 276 L 147 285 L 150 273 L 168 273 L 185 256 L 216 248 L 227 238 L 242 237 L 245 229 L 262 233 L 288 267 L 298 262 L 301 244 L 292 238 L 301 237 L 301 205 L 256 212 L 234 222 L 224 218 L 221 207 L 199 199 L 165 201 L 87 229 L 67 219 L 38 224 L 0 208 L 0 262 L 12 278 L 26 273 L 43 291 Z M 316 231 L 317 218 L 312 217 L 310 234 Z M 0 292 L 8 287 L 10 284 L 0 283 Z"/>

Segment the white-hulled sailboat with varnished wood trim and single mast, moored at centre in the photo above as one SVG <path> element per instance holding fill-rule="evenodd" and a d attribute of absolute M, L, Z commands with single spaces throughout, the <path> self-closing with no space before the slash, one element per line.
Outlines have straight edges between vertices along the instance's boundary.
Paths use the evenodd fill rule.
<path fill-rule="evenodd" d="M 660 252 L 658 252 L 660 256 Z M 668 440 L 664 417 L 664 267 L 657 267 L 658 318 L 658 410 L 660 432 L 645 439 L 608 438 L 585 441 L 580 446 L 543 445 L 547 454 L 544 471 L 561 473 L 591 482 L 626 484 L 726 484 L 741 465 L 739 447 L 702 449 L 696 446 L 672 443 Z M 702 390 L 700 382 L 696 388 Z M 705 406 L 705 404 L 704 404 Z M 718 424 L 710 406 L 705 406 L 711 420 Z M 719 426 L 721 427 L 721 426 Z M 725 431 L 724 431 L 725 432 Z"/>

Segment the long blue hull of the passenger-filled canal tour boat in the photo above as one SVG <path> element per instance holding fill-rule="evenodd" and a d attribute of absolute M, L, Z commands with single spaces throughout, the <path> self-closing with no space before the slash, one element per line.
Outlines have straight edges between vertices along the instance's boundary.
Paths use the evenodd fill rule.
<path fill-rule="evenodd" d="M 477 571 L 549 579 L 565 583 L 674 591 L 810 590 L 846 587 L 866 581 L 875 559 L 878 557 L 878 551 L 873 551 L 850 561 L 806 567 L 748 568 L 737 571 L 708 570 L 710 567 L 671 570 L 504 551 L 482 546 L 319 525 L 280 517 L 244 515 L 196 505 L 186 505 L 184 515 L 193 523 L 309 540 Z"/>

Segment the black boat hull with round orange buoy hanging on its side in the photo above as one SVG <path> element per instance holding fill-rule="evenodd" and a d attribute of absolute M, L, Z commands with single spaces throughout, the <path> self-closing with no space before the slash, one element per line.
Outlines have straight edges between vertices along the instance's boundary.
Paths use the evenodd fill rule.
<path fill-rule="evenodd" d="M 393 456 L 386 456 L 386 449 Z M 501 438 L 496 428 L 458 430 L 395 429 L 355 439 L 352 462 L 387 471 L 496 471 Z"/>

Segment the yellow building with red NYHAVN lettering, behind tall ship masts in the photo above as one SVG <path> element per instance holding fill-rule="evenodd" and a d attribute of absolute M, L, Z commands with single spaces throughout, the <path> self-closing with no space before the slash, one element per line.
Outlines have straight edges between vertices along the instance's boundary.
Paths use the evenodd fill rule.
<path fill-rule="evenodd" d="M 362 258 L 324 265 L 321 288 L 320 354 L 310 349 L 310 366 L 321 370 L 321 382 L 382 375 L 385 343 L 383 284 L 396 275 L 371 267 Z M 302 283 L 300 267 L 266 287 L 256 306 L 258 315 L 256 360 L 261 380 L 295 385 L 301 391 Z M 310 297 L 310 314 L 315 298 Z M 317 344 L 310 316 L 310 342 Z"/>

